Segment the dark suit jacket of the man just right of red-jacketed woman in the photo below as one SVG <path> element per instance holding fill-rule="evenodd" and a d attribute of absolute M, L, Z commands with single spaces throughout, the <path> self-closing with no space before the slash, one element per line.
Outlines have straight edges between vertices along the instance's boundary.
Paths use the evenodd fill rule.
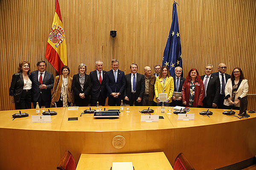
<path fill-rule="evenodd" d="M 201 79 L 204 80 L 204 76 Z M 218 100 L 221 94 L 221 83 L 219 77 L 212 75 L 208 79 L 208 85 L 206 89 L 206 102 L 207 105 L 212 105 L 212 103 L 218 104 Z"/>

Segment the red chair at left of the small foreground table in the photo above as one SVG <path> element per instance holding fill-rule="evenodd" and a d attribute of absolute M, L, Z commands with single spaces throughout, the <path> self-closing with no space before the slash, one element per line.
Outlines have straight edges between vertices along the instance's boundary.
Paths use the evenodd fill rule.
<path fill-rule="evenodd" d="M 57 170 L 76 170 L 76 162 L 70 151 L 65 151 L 57 166 Z"/>

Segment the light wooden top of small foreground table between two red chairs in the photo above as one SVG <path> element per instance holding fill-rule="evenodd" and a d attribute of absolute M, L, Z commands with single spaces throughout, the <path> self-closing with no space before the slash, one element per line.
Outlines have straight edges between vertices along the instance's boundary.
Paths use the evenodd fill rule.
<path fill-rule="evenodd" d="M 76 170 L 110 170 L 113 162 L 132 162 L 135 170 L 173 170 L 163 152 L 81 154 Z"/>

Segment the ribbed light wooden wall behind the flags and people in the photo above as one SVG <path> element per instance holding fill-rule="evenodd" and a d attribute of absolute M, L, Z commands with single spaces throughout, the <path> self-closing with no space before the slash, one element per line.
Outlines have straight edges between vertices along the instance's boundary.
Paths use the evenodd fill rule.
<path fill-rule="evenodd" d="M 184 76 L 190 68 L 204 74 L 204 66 L 227 64 L 227 73 L 239 66 L 249 81 L 249 94 L 256 94 L 256 1 L 209 0 L 176 1 L 180 26 Z M 79 63 L 87 65 L 102 60 L 104 70 L 111 69 L 111 59 L 129 73 L 129 65 L 154 69 L 161 64 L 172 22 L 172 1 L 168 0 L 59 0 L 67 42 L 70 75 L 77 74 Z M 9 99 L 12 74 L 20 61 L 31 63 L 44 59 L 47 37 L 54 17 L 55 0 L 0 1 L 0 110 L 14 109 Z M 110 31 L 117 31 L 112 38 Z M 48 62 L 47 62 L 48 63 Z M 56 71 L 48 63 L 47 71 Z M 250 109 L 255 96 L 249 97 Z"/>

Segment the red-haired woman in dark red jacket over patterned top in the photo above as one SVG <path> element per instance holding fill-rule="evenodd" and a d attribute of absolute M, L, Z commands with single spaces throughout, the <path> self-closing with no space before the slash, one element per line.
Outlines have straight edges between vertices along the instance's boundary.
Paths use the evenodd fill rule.
<path fill-rule="evenodd" d="M 186 107 L 198 108 L 203 106 L 204 83 L 200 78 L 197 69 L 192 68 L 189 71 L 186 80 L 183 83 L 182 101 Z"/>

